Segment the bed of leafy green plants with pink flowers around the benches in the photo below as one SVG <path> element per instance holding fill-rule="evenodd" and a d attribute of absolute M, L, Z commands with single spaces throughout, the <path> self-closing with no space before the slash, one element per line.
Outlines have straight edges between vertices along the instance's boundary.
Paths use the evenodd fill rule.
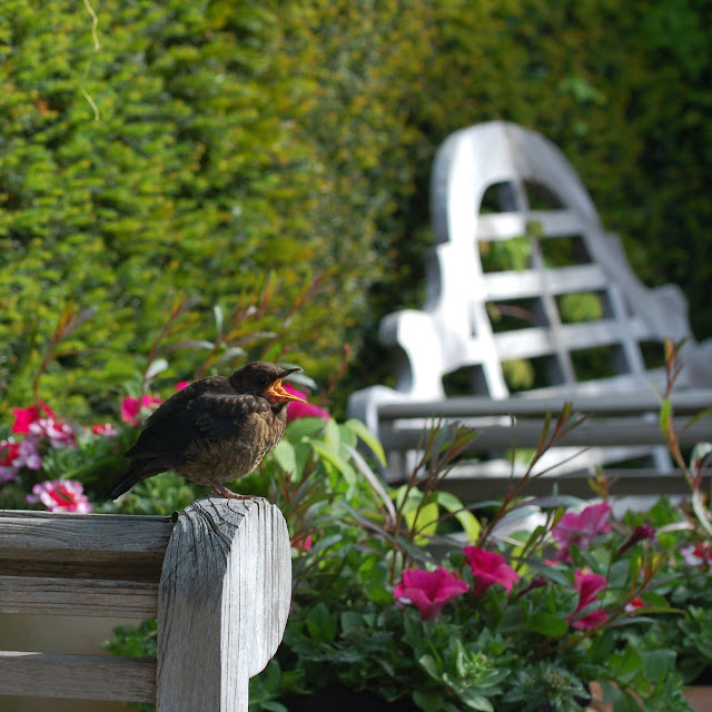
<path fill-rule="evenodd" d="M 12 411 L 0 436 L 3 506 L 165 514 L 207 494 L 165 474 L 118 504 L 97 496 L 126 467 L 122 453 L 145 416 L 184 386 L 167 358 L 177 325 L 190 318 L 184 307 L 156 330 L 111 417 L 79 425 L 41 397 Z M 62 316 L 43 368 L 76 323 Z M 212 357 L 206 344 L 180 346 Z M 221 350 L 222 363 L 196 358 L 196 373 L 246 355 L 236 343 Z M 307 395 L 315 385 L 293 387 Z M 712 662 L 712 545 L 700 491 L 709 446 L 682 463 L 690 506 L 661 500 L 614 517 L 604 475 L 594 503 L 527 497 L 541 455 L 580 421 L 564 408 L 503 501 L 463 506 L 442 484 L 475 436 L 467 428 L 434 423 L 409 479 L 390 488 L 375 472 L 382 447 L 363 424 L 337 423 L 315 403 L 291 404 L 289 415 L 285 438 L 238 485 L 281 508 L 293 542 L 293 611 L 276 657 L 251 681 L 253 709 L 308 709 L 299 705 L 319 692 L 333 701 L 346 690 L 426 712 L 566 711 L 587 706 L 592 682 L 616 712 L 691 709 L 683 685 Z M 674 414 L 663 408 L 661 423 L 674 434 Z M 156 624 L 118 629 L 107 645 L 155 654 Z"/>

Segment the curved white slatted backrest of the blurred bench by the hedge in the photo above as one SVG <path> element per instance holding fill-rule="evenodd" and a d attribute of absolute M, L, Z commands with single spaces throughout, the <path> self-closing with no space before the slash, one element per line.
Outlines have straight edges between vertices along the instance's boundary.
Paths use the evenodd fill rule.
<path fill-rule="evenodd" d="M 388 404 L 442 403 L 453 395 L 508 398 L 506 364 L 517 359 L 537 369 L 536 386 L 517 397 L 563 402 L 650 395 L 662 388 L 664 372 L 646 367 L 643 345 L 660 344 L 661 357 L 665 338 L 689 338 L 690 348 L 694 345 L 682 291 L 674 285 L 649 289 L 637 279 L 619 239 L 604 233 L 575 170 L 538 134 L 505 121 L 453 134 L 434 161 L 431 201 L 436 245 L 426 256 L 426 304 L 422 310 L 386 316 L 379 330 L 396 360 L 396 388 L 372 386 L 349 398 L 349 415 L 374 432 L 389 435 L 379 416 Z M 526 245 L 526 264 L 492 268 L 487 253 L 507 240 Z M 595 300 L 600 314 L 584 322 L 567 319 L 562 303 L 573 295 Z M 510 318 L 508 324 L 497 318 L 507 312 L 526 318 Z M 586 367 L 578 368 L 582 355 L 607 359 L 605 373 L 592 377 Z M 699 359 L 690 372 L 699 374 L 709 360 Z M 468 380 L 466 392 L 448 393 L 444 379 L 461 370 Z M 703 387 L 709 388 L 712 378 L 704 375 Z M 422 416 L 427 416 L 425 408 Z M 390 432 L 398 431 L 397 421 L 387 423 Z M 403 427 L 417 426 L 412 416 Z M 670 468 L 664 447 L 626 447 L 624 438 L 622 447 L 592 448 L 570 468 L 639 455 L 652 456 L 656 468 Z M 397 477 L 404 465 L 394 456 L 387 474 Z M 508 469 L 500 462 L 492 472 Z M 487 467 L 477 464 L 461 472 L 477 477 Z"/>

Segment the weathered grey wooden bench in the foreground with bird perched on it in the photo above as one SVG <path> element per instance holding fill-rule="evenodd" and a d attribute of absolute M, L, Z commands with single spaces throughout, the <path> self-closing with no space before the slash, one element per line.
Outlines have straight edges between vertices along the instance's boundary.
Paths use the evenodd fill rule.
<path fill-rule="evenodd" d="M 281 513 L 210 497 L 175 518 L 0 511 L 0 612 L 158 617 L 158 659 L 0 652 L 0 695 L 246 712 L 291 599 Z"/>

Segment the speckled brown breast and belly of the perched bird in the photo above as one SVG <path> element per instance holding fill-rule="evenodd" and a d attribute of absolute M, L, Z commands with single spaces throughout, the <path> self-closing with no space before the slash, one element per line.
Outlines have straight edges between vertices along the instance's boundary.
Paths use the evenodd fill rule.
<path fill-rule="evenodd" d="M 253 472 L 281 439 L 286 423 L 286 408 L 254 413 L 240 424 L 235 437 L 190 445 L 178 472 L 196 484 L 207 486 L 243 477 Z"/>

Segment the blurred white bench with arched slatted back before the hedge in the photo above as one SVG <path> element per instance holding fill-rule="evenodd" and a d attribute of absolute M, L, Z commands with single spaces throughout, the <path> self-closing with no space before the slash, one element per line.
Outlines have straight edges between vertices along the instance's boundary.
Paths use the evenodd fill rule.
<path fill-rule="evenodd" d="M 414 462 L 407 454 L 433 418 L 455 419 L 479 432 L 469 448 L 478 457 L 449 477 L 471 494 L 502 493 L 525 464 L 496 455 L 535 447 L 546 412 L 572 400 L 596 417 L 538 469 L 563 463 L 551 475 L 584 475 L 585 485 L 599 465 L 643 458 L 625 471 L 633 492 L 684 488 L 657 426 L 664 370 L 649 367 L 645 354 L 656 344 L 662 355 L 665 338 L 688 339 L 690 360 L 674 402 L 678 415 L 691 414 L 712 405 L 712 344 L 695 344 L 676 286 L 649 289 L 636 278 L 563 154 L 505 121 L 457 131 L 435 158 L 431 200 L 436 246 L 427 256 L 427 301 L 380 325 L 397 364 L 396 387 L 372 386 L 348 403 L 349 415 L 380 436 L 386 475 L 407 475 Z M 507 240 L 524 247 L 525 264 L 493 268 L 488 256 Z M 600 313 L 567 318 L 563 307 L 572 295 Z M 606 373 L 584 380 L 582 356 L 607 359 Z M 506 365 L 516 362 L 534 366 L 536 388 L 511 393 Z M 447 393 L 444 382 L 454 373 L 466 379 L 466 393 Z M 701 421 L 683 442 L 712 439 L 711 431 Z M 567 462 L 574 453 L 581 454 Z M 660 477 L 652 481 L 651 472 Z M 551 491 L 551 479 L 542 486 Z"/>

